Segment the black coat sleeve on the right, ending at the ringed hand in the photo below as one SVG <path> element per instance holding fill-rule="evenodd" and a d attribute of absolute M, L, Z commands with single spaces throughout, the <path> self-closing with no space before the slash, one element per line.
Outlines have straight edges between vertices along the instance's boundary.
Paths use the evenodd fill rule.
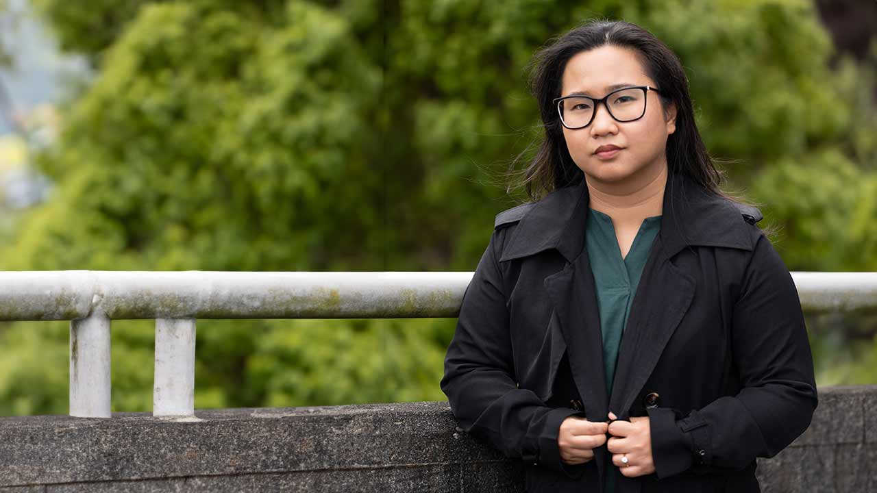
<path fill-rule="evenodd" d="M 816 381 L 795 282 L 759 233 L 731 321 L 741 389 L 682 416 L 652 408 L 652 458 L 658 478 L 688 468 L 744 468 L 773 457 L 800 436 L 816 410 Z"/>

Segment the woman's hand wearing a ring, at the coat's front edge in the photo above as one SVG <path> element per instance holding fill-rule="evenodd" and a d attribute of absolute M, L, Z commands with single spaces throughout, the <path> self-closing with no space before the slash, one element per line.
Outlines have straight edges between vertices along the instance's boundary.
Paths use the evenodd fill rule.
<path fill-rule="evenodd" d="M 617 419 L 610 411 L 610 419 Z M 606 446 L 612 453 L 612 463 L 627 477 L 650 475 L 655 472 L 652 461 L 652 431 L 647 416 L 632 416 L 631 421 L 614 421 L 609 425 L 612 435 Z M 621 458 L 627 457 L 627 465 Z"/>

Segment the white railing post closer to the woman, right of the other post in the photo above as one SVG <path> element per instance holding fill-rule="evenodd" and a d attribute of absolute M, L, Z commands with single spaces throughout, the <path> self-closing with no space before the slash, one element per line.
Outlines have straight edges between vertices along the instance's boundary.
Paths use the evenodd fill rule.
<path fill-rule="evenodd" d="M 157 318 L 153 416 L 194 414 L 195 318 Z"/>

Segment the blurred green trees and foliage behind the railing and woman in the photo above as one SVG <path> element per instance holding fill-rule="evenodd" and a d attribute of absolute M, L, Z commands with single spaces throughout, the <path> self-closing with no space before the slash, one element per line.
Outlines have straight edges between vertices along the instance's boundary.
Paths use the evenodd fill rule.
<path fill-rule="evenodd" d="M 588 18 L 679 54 L 790 270 L 877 270 L 873 0 L 0 0 L 0 269 L 474 270 Z M 819 385 L 877 382 L 877 317 L 807 322 Z M 196 408 L 444 400 L 455 324 L 199 320 Z M 68 412 L 68 327 L 0 323 L 0 415 Z M 153 331 L 113 323 L 113 411 Z"/>

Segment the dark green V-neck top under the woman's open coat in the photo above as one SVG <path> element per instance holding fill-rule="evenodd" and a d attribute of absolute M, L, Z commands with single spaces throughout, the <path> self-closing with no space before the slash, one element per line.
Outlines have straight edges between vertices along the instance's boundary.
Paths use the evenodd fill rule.
<path fill-rule="evenodd" d="M 612 218 L 601 211 L 588 208 L 588 222 L 585 228 L 585 244 L 597 294 L 597 307 L 600 311 L 600 330 L 602 332 L 603 369 L 606 374 L 606 392 L 612 394 L 612 381 L 618 361 L 618 347 L 627 317 L 631 313 L 633 297 L 637 292 L 639 277 L 643 273 L 655 237 L 660 230 L 660 216 L 645 218 L 639 225 L 637 236 L 624 259 L 615 234 Z M 603 419 L 609 419 L 603 417 Z M 607 456 L 610 474 L 606 475 L 607 493 L 615 491 L 616 471 Z M 611 474 L 615 473 L 615 474 Z"/>

